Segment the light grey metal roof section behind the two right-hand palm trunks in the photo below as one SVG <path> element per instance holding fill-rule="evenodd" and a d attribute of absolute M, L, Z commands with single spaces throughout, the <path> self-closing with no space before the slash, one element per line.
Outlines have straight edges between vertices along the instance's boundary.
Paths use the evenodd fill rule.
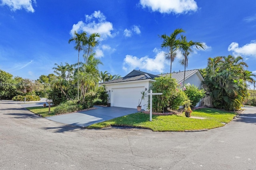
<path fill-rule="evenodd" d="M 193 74 L 196 74 L 196 72 L 199 72 L 199 70 L 186 70 L 186 74 L 185 74 L 185 80 L 187 78 L 189 78 L 190 76 L 192 76 Z M 199 72 L 200 74 L 200 72 Z M 158 74 L 158 76 L 169 76 L 170 73 L 166 73 L 166 74 Z M 200 74 L 201 75 L 201 74 Z M 201 75 L 202 76 L 202 75 Z M 180 72 L 172 72 L 172 78 L 175 78 L 179 83 L 183 82 L 184 79 L 184 71 L 180 71 Z M 203 77 L 202 77 L 203 79 Z"/>

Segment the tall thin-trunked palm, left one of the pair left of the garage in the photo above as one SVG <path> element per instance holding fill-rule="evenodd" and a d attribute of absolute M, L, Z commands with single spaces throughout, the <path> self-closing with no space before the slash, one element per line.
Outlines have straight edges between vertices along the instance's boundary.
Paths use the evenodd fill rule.
<path fill-rule="evenodd" d="M 70 43 L 71 41 L 75 41 L 76 43 L 74 49 L 78 51 L 78 73 L 79 73 L 79 53 L 83 49 L 82 48 L 83 43 L 86 41 L 86 32 L 82 32 L 79 34 L 75 31 L 74 36 L 68 40 L 68 43 Z M 77 81 L 77 84 L 78 84 L 77 98 L 79 100 L 79 79 Z"/>

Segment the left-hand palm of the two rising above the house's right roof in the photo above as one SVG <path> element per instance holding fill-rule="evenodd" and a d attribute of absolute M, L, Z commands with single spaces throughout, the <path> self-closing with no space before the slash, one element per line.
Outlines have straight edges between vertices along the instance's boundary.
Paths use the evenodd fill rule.
<path fill-rule="evenodd" d="M 170 60 L 170 76 L 172 73 L 172 62 L 176 58 L 176 51 L 179 49 L 180 45 L 182 42 L 180 39 L 176 38 L 178 34 L 185 32 L 183 29 L 175 29 L 174 32 L 170 35 L 170 37 L 166 34 L 161 35 L 161 39 L 164 40 L 162 43 L 161 47 L 162 48 L 167 48 L 168 53 L 166 53 L 166 59 Z"/>

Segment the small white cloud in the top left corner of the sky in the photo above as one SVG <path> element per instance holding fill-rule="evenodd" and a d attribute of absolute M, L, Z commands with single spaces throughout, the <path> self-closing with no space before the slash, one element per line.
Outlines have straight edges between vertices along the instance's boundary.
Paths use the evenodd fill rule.
<path fill-rule="evenodd" d="M 1 5 L 9 6 L 12 11 L 21 10 L 24 8 L 28 12 L 35 12 L 32 2 L 36 5 L 36 0 L 2 0 Z"/>

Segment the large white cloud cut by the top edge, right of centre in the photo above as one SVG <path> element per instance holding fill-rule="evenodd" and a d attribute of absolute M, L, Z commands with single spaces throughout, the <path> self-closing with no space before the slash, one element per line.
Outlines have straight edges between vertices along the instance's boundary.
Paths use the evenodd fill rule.
<path fill-rule="evenodd" d="M 160 13 L 187 13 L 196 11 L 198 6 L 194 0 L 140 0 L 143 8 L 150 8 L 153 12 Z"/>

